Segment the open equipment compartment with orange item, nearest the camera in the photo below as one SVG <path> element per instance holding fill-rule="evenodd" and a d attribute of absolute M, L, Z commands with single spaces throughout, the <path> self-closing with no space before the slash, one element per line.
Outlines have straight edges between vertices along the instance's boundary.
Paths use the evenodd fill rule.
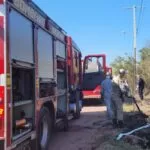
<path fill-rule="evenodd" d="M 30 132 L 34 123 L 34 70 L 12 67 L 13 140 Z"/>

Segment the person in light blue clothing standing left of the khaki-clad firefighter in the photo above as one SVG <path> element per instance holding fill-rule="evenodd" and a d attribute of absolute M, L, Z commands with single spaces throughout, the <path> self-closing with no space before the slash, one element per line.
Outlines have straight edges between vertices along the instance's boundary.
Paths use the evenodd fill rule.
<path fill-rule="evenodd" d="M 105 80 L 101 83 L 102 87 L 102 97 L 104 99 L 106 108 L 107 108 L 107 117 L 108 119 L 112 119 L 113 112 L 111 106 L 111 92 L 112 92 L 112 81 L 109 73 L 106 74 Z"/>

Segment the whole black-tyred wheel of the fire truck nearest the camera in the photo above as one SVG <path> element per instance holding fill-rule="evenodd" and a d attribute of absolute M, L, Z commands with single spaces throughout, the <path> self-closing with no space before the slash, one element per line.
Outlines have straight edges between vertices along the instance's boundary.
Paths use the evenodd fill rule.
<path fill-rule="evenodd" d="M 43 107 L 40 112 L 38 124 L 38 144 L 39 150 L 48 150 L 49 141 L 52 136 L 52 116 L 48 108 Z"/>

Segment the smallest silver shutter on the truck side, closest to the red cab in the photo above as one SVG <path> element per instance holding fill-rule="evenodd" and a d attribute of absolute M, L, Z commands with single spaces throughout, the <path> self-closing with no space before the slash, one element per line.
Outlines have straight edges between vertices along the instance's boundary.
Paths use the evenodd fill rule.
<path fill-rule="evenodd" d="M 65 44 L 60 41 L 56 41 L 56 55 L 64 59 L 66 58 Z"/>

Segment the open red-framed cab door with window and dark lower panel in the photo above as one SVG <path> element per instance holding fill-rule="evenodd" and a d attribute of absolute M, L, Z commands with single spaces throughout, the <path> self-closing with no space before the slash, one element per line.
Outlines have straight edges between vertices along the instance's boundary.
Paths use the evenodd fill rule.
<path fill-rule="evenodd" d="M 101 99 L 101 82 L 107 72 L 106 56 L 88 55 L 83 61 L 83 98 L 84 100 Z"/>

